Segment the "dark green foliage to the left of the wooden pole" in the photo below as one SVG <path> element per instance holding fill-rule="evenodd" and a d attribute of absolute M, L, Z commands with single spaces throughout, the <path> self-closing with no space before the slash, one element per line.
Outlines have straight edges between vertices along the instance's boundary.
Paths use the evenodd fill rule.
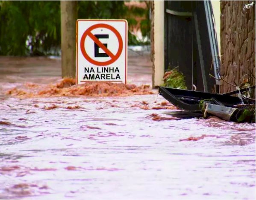
<path fill-rule="evenodd" d="M 60 46 L 59 1 L 0 1 L 0 55 L 44 55 Z"/>

